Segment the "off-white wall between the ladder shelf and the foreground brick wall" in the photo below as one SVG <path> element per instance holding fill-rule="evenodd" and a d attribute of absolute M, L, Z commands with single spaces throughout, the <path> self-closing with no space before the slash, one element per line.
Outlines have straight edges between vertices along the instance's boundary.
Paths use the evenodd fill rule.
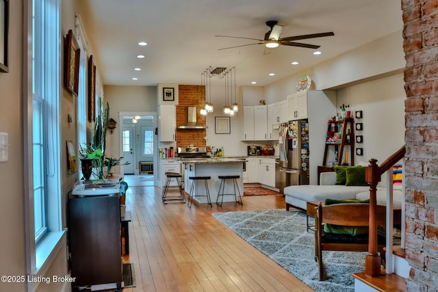
<path fill-rule="evenodd" d="M 337 105 L 350 105 L 352 111 L 362 111 L 363 156 L 355 157 L 355 164 L 368 163 L 371 158 L 382 163 L 404 145 L 404 92 L 403 75 L 398 74 L 337 90 Z"/>

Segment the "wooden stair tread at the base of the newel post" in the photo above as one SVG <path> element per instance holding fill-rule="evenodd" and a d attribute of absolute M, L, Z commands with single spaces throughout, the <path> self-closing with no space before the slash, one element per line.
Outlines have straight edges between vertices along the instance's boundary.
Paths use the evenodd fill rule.
<path fill-rule="evenodd" d="M 352 276 L 376 291 L 406 291 L 406 279 L 396 274 L 385 274 L 385 270 L 382 270 L 381 276 L 372 278 L 365 277 L 365 272 L 352 274 Z"/>

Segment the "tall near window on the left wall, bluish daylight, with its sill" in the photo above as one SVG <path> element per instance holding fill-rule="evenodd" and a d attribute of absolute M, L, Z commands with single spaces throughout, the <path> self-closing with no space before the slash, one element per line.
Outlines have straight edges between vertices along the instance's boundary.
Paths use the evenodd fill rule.
<path fill-rule="evenodd" d="M 60 135 L 60 0 L 28 0 L 31 22 L 25 47 L 25 187 L 27 274 L 39 274 L 65 239 L 62 228 Z M 27 27 L 25 27 L 27 28 Z M 27 44 L 25 44 L 27 45 Z M 31 144 L 32 147 L 28 147 Z M 65 145 L 64 145 L 65 148 Z M 64 241 L 65 243 L 65 241 Z M 32 283 L 32 291 L 38 283 Z"/>

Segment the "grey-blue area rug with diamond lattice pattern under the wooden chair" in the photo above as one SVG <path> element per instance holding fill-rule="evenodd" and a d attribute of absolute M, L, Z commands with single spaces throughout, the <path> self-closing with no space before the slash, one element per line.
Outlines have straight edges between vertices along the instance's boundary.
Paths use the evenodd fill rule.
<path fill-rule="evenodd" d="M 266 254 L 315 291 L 354 291 L 352 273 L 365 270 L 366 252 L 324 251 L 326 280 L 319 280 L 313 231 L 299 211 L 263 210 L 213 213 L 257 250 Z M 309 224 L 314 220 L 309 218 Z"/>

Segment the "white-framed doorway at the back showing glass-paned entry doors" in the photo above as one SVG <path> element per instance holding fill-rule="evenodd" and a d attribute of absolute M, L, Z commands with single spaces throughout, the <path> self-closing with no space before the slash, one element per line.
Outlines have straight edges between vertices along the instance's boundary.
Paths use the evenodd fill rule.
<path fill-rule="evenodd" d="M 156 111 L 124 111 L 119 112 L 120 122 L 120 156 L 128 165 L 120 168 L 120 174 L 134 174 L 145 178 L 140 171 L 143 163 L 153 164 L 153 175 L 148 181 L 157 180 L 157 112 Z M 144 177 L 143 177 L 144 176 Z"/>

